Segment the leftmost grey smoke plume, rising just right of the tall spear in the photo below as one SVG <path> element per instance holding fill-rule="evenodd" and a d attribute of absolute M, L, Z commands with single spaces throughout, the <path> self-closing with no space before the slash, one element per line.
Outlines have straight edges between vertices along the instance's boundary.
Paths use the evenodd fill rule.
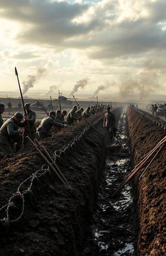
<path fill-rule="evenodd" d="M 45 68 L 38 68 L 35 75 L 28 75 L 27 80 L 23 81 L 23 95 L 34 87 L 34 83 L 46 72 Z"/>

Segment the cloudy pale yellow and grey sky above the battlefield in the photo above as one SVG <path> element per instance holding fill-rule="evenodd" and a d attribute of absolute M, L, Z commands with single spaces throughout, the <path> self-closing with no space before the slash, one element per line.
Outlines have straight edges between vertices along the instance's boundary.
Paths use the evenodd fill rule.
<path fill-rule="evenodd" d="M 165 0 L 0 0 L 0 91 L 18 91 L 16 66 L 27 96 L 166 94 L 165 10 Z"/>

